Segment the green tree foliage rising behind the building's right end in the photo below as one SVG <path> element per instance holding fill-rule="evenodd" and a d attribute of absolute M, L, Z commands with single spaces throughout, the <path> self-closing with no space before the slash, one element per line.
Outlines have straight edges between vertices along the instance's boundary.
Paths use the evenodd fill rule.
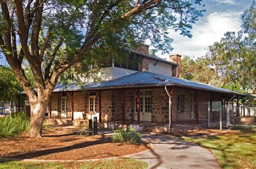
<path fill-rule="evenodd" d="M 241 15 L 241 31 L 226 32 L 204 57 L 185 57 L 183 78 L 237 91 L 255 89 L 255 3 Z"/>

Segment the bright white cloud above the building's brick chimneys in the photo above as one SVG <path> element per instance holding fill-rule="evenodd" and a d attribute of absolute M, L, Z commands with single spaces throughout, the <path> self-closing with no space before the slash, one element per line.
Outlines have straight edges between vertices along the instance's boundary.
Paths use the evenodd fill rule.
<path fill-rule="evenodd" d="M 178 32 L 170 32 L 170 36 L 174 39 L 172 53 L 181 55 L 194 55 L 200 57 L 206 53 L 206 48 L 215 41 L 220 41 L 227 31 L 237 32 L 240 30 L 241 12 L 213 12 L 204 19 L 193 25 L 192 38 L 181 36 Z M 157 53 L 161 58 L 169 58 L 169 56 Z"/>

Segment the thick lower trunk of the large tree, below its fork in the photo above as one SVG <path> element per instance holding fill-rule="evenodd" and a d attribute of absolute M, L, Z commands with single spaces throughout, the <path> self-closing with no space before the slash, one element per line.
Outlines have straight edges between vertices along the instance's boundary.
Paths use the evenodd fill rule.
<path fill-rule="evenodd" d="M 29 137 L 41 137 L 42 126 L 45 112 L 48 107 L 48 100 L 46 98 L 38 98 L 35 102 L 30 101 L 31 117 L 29 127 Z"/>

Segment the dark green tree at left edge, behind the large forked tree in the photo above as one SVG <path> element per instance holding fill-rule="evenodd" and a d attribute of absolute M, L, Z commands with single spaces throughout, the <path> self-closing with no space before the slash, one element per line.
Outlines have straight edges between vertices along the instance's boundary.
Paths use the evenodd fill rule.
<path fill-rule="evenodd" d="M 9 67 L 0 67 L 0 101 L 15 101 L 19 91 L 14 72 Z"/>

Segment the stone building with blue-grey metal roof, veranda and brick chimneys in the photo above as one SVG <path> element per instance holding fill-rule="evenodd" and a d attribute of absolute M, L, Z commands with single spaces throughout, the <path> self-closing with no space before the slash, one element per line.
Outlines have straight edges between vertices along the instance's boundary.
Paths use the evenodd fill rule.
<path fill-rule="evenodd" d="M 148 55 L 148 51 L 149 46 L 144 45 L 131 51 L 135 61 L 112 60 L 99 72 L 100 82 L 86 78 L 83 87 L 58 84 L 49 103 L 49 118 L 76 121 L 96 116 L 102 124 L 147 122 L 173 127 L 188 122 L 215 122 L 217 112 L 209 110 L 213 101 L 225 107 L 231 97 L 246 96 L 181 79 L 181 55 L 170 55 L 171 61 L 167 61 Z"/>

